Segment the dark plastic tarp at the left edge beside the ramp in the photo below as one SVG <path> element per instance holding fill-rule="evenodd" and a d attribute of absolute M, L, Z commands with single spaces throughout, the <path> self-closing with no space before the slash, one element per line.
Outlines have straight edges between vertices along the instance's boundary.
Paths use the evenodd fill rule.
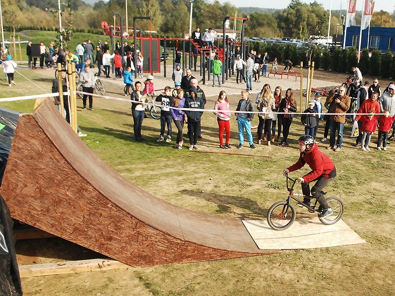
<path fill-rule="evenodd" d="M 18 118 L 19 113 L 0 107 L 0 185 Z M 22 295 L 12 226 L 10 212 L 0 195 L 0 296 Z"/>

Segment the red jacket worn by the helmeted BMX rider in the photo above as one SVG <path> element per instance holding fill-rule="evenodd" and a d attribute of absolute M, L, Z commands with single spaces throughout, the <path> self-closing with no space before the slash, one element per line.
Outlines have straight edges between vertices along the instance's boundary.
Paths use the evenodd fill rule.
<path fill-rule="evenodd" d="M 329 173 L 335 168 L 328 155 L 318 150 L 316 143 L 313 144 L 313 147 L 309 151 L 300 153 L 298 161 L 294 165 L 291 165 L 288 170 L 290 172 L 299 170 L 306 163 L 312 171 L 306 176 L 303 176 L 305 182 L 312 182 L 321 176 L 328 179 Z"/>

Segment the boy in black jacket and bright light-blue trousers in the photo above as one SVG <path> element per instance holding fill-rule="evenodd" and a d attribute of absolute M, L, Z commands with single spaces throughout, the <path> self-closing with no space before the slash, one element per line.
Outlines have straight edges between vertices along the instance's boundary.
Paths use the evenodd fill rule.
<path fill-rule="evenodd" d="M 247 111 L 247 112 L 252 112 L 254 111 L 254 108 L 252 107 L 252 102 L 248 98 L 248 90 L 243 89 L 241 91 L 241 99 L 238 101 L 237 104 L 237 109 L 236 111 Z M 238 127 L 238 149 L 243 148 L 243 143 L 244 143 L 244 129 L 245 132 L 247 133 L 247 138 L 248 138 L 248 143 L 250 145 L 250 148 L 255 149 L 254 142 L 252 140 L 252 134 L 251 134 L 251 121 L 254 118 L 254 113 L 235 113 L 237 116 L 237 127 Z"/>

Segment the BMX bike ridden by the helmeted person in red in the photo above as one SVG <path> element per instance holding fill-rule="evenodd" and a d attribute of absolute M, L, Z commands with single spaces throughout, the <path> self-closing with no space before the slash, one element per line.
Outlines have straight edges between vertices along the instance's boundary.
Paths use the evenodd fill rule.
<path fill-rule="evenodd" d="M 296 183 L 296 179 L 293 180 L 289 178 L 288 173 L 285 173 L 285 177 L 287 180 L 287 189 L 289 191 L 288 198 L 286 200 L 281 200 L 274 203 L 270 207 L 267 215 L 267 221 L 270 227 L 275 230 L 285 230 L 290 227 L 295 221 L 296 211 L 294 206 L 291 204 L 291 199 L 299 202 L 299 204 L 302 207 L 307 208 L 310 213 L 320 214 L 322 211 L 322 208 L 319 206 L 318 201 L 313 196 L 307 196 L 304 194 L 293 192 L 293 187 Z M 323 191 L 321 191 L 321 193 L 326 194 L 326 192 Z M 298 197 L 308 198 L 310 200 L 315 199 L 316 201 L 313 205 L 307 206 L 301 200 L 299 200 Z M 344 214 L 344 203 L 339 197 L 328 197 L 326 198 L 326 202 L 328 203 L 329 207 L 332 208 L 333 214 L 325 218 L 318 217 L 318 219 L 325 225 L 331 225 L 338 222 L 342 218 Z"/>

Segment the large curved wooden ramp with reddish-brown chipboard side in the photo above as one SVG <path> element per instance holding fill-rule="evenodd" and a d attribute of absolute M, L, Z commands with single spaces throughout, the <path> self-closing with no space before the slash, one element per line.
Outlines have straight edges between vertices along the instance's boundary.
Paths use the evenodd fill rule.
<path fill-rule="evenodd" d="M 99 159 L 46 99 L 19 117 L 0 193 L 13 218 L 132 266 L 277 253 L 239 219 L 176 207 Z"/>

